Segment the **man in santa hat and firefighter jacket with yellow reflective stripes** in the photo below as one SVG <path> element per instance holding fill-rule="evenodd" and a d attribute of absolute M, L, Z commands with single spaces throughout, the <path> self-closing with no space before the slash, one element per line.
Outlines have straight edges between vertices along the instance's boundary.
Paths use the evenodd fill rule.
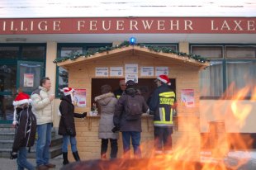
<path fill-rule="evenodd" d="M 159 75 L 155 80 L 157 88 L 149 101 L 150 114 L 154 115 L 155 154 L 172 153 L 173 106 L 175 93 L 166 75 Z M 164 144 L 164 147 L 163 147 Z"/>

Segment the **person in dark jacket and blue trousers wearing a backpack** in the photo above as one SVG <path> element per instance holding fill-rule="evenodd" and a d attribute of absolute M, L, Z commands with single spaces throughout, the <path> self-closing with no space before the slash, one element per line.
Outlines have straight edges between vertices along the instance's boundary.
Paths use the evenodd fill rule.
<path fill-rule="evenodd" d="M 140 151 L 140 133 L 141 133 L 141 114 L 148 110 L 148 106 L 145 102 L 144 97 L 138 94 L 135 89 L 135 82 L 132 80 L 127 81 L 126 90 L 119 98 L 116 104 L 116 110 L 114 114 L 114 125 L 116 129 L 120 128 L 123 140 L 123 149 L 125 156 L 130 158 L 130 138 L 134 149 L 134 155 L 136 158 L 141 158 Z M 132 116 L 127 107 L 129 107 L 130 101 L 135 100 L 133 104 L 134 108 L 139 108 L 135 116 Z M 137 106 L 135 106 L 137 105 Z M 132 108 L 130 108 L 132 110 Z"/>

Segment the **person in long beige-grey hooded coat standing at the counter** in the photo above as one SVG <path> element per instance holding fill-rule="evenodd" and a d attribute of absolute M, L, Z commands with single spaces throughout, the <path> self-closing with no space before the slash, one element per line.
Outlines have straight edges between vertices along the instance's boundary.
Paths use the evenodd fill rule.
<path fill-rule="evenodd" d="M 103 85 L 101 87 L 102 95 L 95 97 L 95 102 L 101 107 L 101 120 L 99 122 L 98 137 L 102 139 L 101 158 L 107 158 L 108 140 L 111 143 L 110 158 L 116 158 L 118 132 L 113 133 L 114 128 L 113 116 L 117 99 L 111 92 L 111 86 Z"/>

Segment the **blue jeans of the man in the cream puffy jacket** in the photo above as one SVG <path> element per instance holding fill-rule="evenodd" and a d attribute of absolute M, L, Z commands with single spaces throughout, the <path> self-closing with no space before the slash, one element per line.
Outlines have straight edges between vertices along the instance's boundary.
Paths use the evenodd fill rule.
<path fill-rule="evenodd" d="M 51 123 L 36 125 L 36 165 L 49 163 L 50 159 L 50 140 L 51 140 Z"/>

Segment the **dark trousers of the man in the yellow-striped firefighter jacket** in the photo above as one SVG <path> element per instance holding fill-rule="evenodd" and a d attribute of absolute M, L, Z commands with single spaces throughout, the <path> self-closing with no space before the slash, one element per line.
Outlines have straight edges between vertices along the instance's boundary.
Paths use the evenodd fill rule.
<path fill-rule="evenodd" d="M 154 149 L 158 151 L 172 149 L 173 126 L 154 126 Z M 164 145 L 163 145 L 164 144 Z M 164 147 L 163 147 L 164 146 Z"/>

